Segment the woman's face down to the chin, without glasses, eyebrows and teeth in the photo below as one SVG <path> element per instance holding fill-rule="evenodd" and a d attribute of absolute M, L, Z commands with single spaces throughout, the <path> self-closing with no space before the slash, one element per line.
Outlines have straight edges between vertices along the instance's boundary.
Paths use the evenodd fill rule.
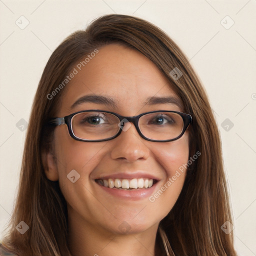
<path fill-rule="evenodd" d="M 78 73 L 64 88 L 57 109 L 59 117 L 86 109 L 123 116 L 152 110 L 182 111 L 182 102 L 181 106 L 171 102 L 145 103 L 149 97 L 178 97 L 157 67 L 136 50 L 109 44 L 100 48 L 81 70 L 76 69 Z M 111 97 L 116 106 L 79 100 L 72 107 L 84 95 Z M 187 132 L 174 141 L 153 142 L 140 137 L 131 124 L 114 139 L 84 142 L 71 138 L 66 125 L 57 126 L 56 165 L 48 160 L 46 175 L 59 180 L 70 223 L 78 221 L 111 233 L 136 233 L 157 227 L 173 207 L 184 182 L 185 168 L 183 172 L 179 168 L 188 160 Z M 157 182 L 150 188 L 120 190 L 95 181 L 108 177 L 128 181 L 143 178 L 143 182 L 154 178 Z"/>

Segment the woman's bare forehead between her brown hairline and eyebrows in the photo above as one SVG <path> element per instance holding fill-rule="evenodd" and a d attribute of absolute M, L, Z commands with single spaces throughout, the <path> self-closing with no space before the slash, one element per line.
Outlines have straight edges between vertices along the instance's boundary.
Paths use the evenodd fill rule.
<path fill-rule="evenodd" d="M 152 96 L 178 98 L 155 64 L 137 50 L 112 43 L 88 55 L 82 58 L 87 57 L 86 62 L 74 66 L 77 73 L 62 97 L 64 109 L 71 109 L 84 95 L 110 96 L 115 107 L 125 111 L 144 107 L 145 100 Z"/>

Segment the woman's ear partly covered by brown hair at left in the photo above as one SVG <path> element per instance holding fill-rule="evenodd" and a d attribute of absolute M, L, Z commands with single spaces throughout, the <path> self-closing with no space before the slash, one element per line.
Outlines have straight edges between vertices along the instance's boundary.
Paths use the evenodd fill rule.
<path fill-rule="evenodd" d="M 54 154 L 50 151 L 42 152 L 42 164 L 46 177 L 51 181 L 58 180 L 57 164 Z"/>

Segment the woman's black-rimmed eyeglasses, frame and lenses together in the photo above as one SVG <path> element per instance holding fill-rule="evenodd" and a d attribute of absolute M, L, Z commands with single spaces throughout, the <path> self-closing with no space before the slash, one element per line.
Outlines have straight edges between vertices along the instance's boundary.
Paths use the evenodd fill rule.
<path fill-rule="evenodd" d="M 180 138 L 191 121 L 190 114 L 178 111 L 157 110 L 135 116 L 122 116 L 110 111 L 92 109 L 51 118 L 48 123 L 55 126 L 66 124 L 72 138 L 93 142 L 117 137 L 130 126 L 127 122 L 131 122 L 142 138 L 165 142 Z"/>

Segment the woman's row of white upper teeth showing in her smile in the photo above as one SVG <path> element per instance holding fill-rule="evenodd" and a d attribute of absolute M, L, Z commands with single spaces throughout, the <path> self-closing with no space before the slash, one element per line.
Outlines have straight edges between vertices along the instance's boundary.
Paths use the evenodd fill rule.
<path fill-rule="evenodd" d="M 132 179 L 126 179 L 126 178 L 108 178 L 108 179 L 99 179 L 98 180 L 100 184 L 106 187 L 117 187 L 117 188 L 148 188 L 153 185 L 153 179 L 152 178 L 132 178 Z"/>

